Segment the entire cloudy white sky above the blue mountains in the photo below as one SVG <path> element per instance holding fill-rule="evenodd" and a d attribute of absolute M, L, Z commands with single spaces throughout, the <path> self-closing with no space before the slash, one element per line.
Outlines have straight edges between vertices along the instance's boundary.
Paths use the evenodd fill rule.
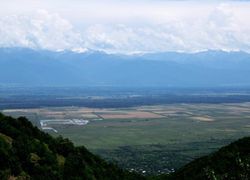
<path fill-rule="evenodd" d="M 0 47 L 250 52 L 250 1 L 0 0 Z"/>

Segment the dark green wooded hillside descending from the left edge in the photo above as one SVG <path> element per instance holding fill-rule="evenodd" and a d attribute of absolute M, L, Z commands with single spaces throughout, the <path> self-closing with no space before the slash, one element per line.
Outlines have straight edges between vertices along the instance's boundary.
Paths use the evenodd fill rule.
<path fill-rule="evenodd" d="M 59 162 L 58 159 L 61 159 Z M 53 138 L 26 118 L 0 114 L 0 179 L 144 179 L 106 163 L 84 147 Z"/>

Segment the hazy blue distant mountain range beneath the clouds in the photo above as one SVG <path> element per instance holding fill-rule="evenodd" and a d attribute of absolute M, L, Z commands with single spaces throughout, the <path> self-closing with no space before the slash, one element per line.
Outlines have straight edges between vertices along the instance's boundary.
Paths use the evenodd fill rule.
<path fill-rule="evenodd" d="M 24 86 L 250 86 L 250 54 L 105 54 L 0 48 L 0 84 Z"/>

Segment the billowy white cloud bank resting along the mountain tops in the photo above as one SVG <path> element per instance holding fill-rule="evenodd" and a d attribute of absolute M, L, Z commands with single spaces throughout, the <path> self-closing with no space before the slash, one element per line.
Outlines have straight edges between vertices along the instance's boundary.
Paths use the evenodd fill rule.
<path fill-rule="evenodd" d="M 250 12 L 245 11 L 242 16 L 240 11 L 240 6 L 237 10 L 228 4 L 218 4 L 206 15 L 195 18 L 191 15 L 192 18 L 154 22 L 145 17 L 138 23 L 93 22 L 84 27 L 47 10 L 2 15 L 0 47 L 79 52 L 93 49 L 125 54 L 208 49 L 250 52 Z"/>

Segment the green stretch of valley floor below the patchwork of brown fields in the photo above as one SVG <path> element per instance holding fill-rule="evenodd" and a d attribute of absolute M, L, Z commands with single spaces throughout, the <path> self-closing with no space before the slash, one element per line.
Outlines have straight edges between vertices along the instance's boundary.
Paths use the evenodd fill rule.
<path fill-rule="evenodd" d="M 249 118 L 243 114 L 229 117 L 222 110 L 219 115 L 219 110 L 204 112 L 202 109 L 197 114 L 213 112 L 215 120 L 212 122 L 177 115 L 161 119 L 102 120 L 83 127 L 56 129 L 77 145 L 85 145 L 91 152 L 117 162 L 122 168 L 161 174 L 250 135 Z"/>

